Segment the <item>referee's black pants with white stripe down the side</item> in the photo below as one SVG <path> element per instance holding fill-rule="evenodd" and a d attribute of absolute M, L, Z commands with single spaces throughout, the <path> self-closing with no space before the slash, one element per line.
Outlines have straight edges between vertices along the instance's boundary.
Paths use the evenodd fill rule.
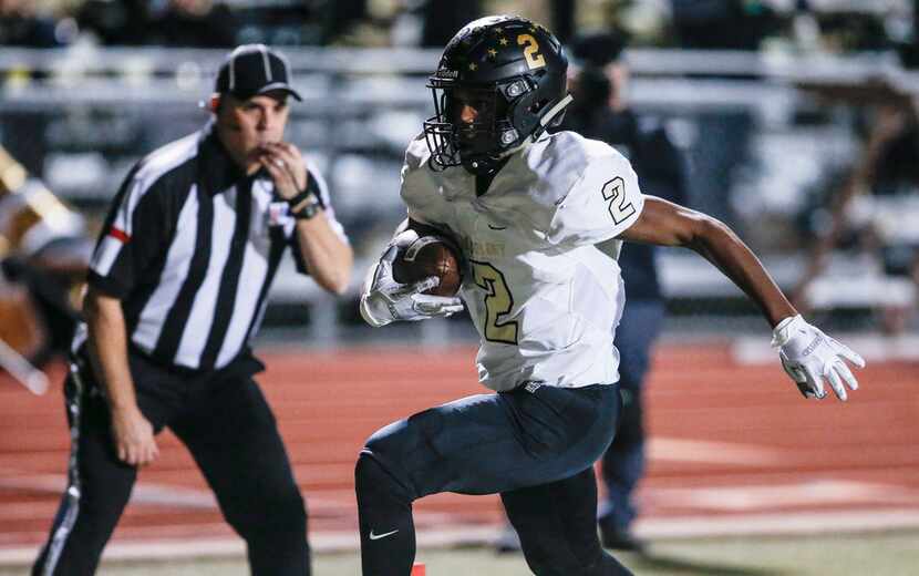
<path fill-rule="evenodd" d="M 137 403 L 156 433 L 188 446 L 255 575 L 310 573 L 307 513 L 275 416 L 251 371 L 178 376 L 130 354 Z M 33 575 L 90 575 L 131 495 L 137 470 L 117 459 L 110 412 L 86 370 L 65 383 L 68 490 Z"/>

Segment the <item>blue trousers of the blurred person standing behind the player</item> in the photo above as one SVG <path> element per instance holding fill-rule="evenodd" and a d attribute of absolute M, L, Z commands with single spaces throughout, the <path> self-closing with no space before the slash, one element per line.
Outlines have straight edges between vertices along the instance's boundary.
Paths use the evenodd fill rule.
<path fill-rule="evenodd" d="M 638 514 L 634 488 L 644 475 L 642 389 L 663 319 L 663 301 L 628 300 L 616 330 L 616 348 L 621 359 L 622 413 L 619 430 L 602 461 L 607 496 L 600 506 L 600 524 L 608 529 L 627 531 Z"/>

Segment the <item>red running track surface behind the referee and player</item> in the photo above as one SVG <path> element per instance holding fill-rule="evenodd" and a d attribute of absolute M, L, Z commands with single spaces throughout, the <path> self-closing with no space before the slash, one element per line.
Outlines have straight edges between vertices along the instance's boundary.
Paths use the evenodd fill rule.
<path fill-rule="evenodd" d="M 278 415 L 313 535 L 357 524 L 353 464 L 363 440 L 417 410 L 483 392 L 474 350 L 266 352 L 260 382 Z M 33 397 L 0 379 L 0 548 L 43 541 L 69 436 L 55 387 Z M 774 366 L 739 366 L 726 347 L 662 346 L 649 385 L 652 436 L 646 526 L 668 520 L 801 513 L 919 515 L 919 366 L 859 374 L 848 403 L 808 402 Z M 230 534 L 187 452 L 169 433 L 141 473 L 115 541 Z M 442 494 L 416 504 L 425 527 L 500 522 L 496 497 Z"/>

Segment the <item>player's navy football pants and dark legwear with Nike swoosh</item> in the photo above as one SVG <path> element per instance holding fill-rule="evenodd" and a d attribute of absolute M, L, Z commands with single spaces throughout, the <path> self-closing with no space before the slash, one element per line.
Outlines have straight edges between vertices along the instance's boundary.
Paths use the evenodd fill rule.
<path fill-rule="evenodd" d="M 368 440 L 355 486 L 365 576 L 405 576 L 412 502 L 500 493 L 538 576 L 630 574 L 600 547 L 592 464 L 612 441 L 619 387 L 520 387 L 456 400 Z"/>

